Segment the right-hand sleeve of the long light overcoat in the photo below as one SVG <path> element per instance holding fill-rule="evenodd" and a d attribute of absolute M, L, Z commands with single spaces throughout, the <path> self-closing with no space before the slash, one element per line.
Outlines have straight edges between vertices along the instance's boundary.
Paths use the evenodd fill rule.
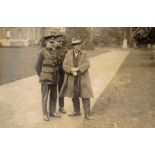
<path fill-rule="evenodd" d="M 88 60 L 88 56 L 87 56 L 87 53 L 84 53 L 84 59 L 82 61 L 82 64 L 80 66 L 78 66 L 78 69 L 79 69 L 79 72 L 80 73 L 83 73 L 85 72 L 86 70 L 88 70 L 90 67 L 90 62 Z"/>

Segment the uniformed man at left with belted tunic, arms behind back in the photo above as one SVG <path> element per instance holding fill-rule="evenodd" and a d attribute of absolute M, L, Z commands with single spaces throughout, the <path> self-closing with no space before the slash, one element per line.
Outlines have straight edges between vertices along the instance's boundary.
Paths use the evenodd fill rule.
<path fill-rule="evenodd" d="M 47 39 L 47 38 L 46 38 Z M 43 119 L 49 121 L 49 116 L 60 117 L 56 114 L 58 66 L 57 47 L 59 43 L 48 37 L 46 48 L 39 54 L 36 71 L 40 78 L 42 93 Z M 48 106 L 49 96 L 49 106 Z M 47 109 L 49 107 L 49 110 Z M 49 112 L 49 113 L 48 113 Z"/>

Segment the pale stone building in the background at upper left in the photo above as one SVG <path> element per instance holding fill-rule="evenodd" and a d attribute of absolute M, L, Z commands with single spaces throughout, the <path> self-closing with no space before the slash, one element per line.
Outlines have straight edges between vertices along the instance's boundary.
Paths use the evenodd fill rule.
<path fill-rule="evenodd" d="M 62 27 L 1 27 L 0 46 L 35 46 L 44 36 L 65 33 Z"/>

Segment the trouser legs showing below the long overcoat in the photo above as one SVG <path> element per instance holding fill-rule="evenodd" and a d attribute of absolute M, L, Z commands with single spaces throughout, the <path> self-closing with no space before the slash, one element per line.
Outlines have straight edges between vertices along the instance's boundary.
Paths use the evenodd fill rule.
<path fill-rule="evenodd" d="M 72 98 L 73 108 L 75 113 L 80 113 L 80 100 L 79 97 Z M 85 115 L 90 115 L 90 99 L 82 98 L 83 110 Z"/>

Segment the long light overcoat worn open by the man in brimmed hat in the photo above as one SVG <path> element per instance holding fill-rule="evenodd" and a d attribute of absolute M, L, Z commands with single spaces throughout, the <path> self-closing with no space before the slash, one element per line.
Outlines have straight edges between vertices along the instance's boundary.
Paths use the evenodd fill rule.
<path fill-rule="evenodd" d="M 73 50 L 68 51 L 64 62 L 63 69 L 65 71 L 64 82 L 60 91 L 60 97 L 71 97 L 73 98 L 73 89 L 74 89 L 74 76 L 71 74 L 71 68 L 73 65 Z M 89 67 L 90 63 L 87 57 L 87 52 L 81 50 L 78 56 L 78 69 L 80 71 L 80 95 L 82 98 L 93 98 L 93 91 L 90 82 L 89 76 Z"/>

